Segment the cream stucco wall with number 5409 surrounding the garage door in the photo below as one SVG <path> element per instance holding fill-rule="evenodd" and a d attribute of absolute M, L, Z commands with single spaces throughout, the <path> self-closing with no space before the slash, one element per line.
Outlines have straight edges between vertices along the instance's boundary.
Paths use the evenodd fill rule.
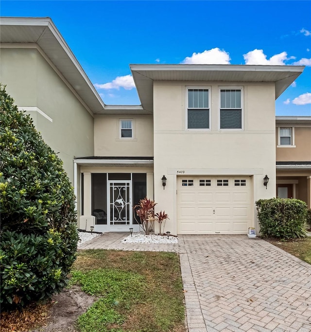
<path fill-rule="evenodd" d="M 186 87 L 211 90 L 211 130 L 186 130 Z M 219 130 L 219 88 L 242 87 L 243 130 Z M 275 87 L 271 83 L 154 83 L 155 201 L 176 233 L 176 178 L 183 175 L 252 177 L 253 202 L 276 194 Z M 161 178 L 166 175 L 163 190 Z M 267 190 L 263 177 L 270 178 Z M 252 223 L 255 226 L 255 205 Z M 258 227 L 257 227 L 258 228 Z"/>

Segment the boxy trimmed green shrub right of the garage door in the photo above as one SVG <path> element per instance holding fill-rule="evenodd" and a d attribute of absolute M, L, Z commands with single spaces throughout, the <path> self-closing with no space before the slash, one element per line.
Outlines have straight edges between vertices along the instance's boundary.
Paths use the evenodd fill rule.
<path fill-rule="evenodd" d="M 260 232 L 264 237 L 305 237 L 307 204 L 299 199 L 259 199 L 256 202 Z"/>

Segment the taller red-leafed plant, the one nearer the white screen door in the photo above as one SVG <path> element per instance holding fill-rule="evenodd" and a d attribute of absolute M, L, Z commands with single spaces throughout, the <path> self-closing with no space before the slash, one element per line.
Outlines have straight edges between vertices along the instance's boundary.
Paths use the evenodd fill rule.
<path fill-rule="evenodd" d="M 136 215 L 140 219 L 140 227 L 143 229 L 146 235 L 150 234 L 153 230 L 155 223 L 155 201 L 152 199 L 144 199 L 139 200 L 139 204 L 135 205 L 133 209 L 135 210 L 135 219 Z M 138 221 L 136 219 L 136 221 Z"/>

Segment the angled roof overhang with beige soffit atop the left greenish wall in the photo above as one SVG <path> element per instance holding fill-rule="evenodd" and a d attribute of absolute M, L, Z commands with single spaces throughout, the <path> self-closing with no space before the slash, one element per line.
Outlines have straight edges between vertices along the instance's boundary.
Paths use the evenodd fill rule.
<path fill-rule="evenodd" d="M 50 17 L 1 17 L 0 41 L 9 44 L 36 44 L 64 76 L 92 114 L 139 114 L 138 106 L 105 105 Z"/>

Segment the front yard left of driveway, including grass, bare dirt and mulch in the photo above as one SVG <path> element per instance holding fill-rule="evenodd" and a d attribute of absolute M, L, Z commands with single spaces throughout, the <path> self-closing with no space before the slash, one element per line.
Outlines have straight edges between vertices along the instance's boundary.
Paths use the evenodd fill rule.
<path fill-rule="evenodd" d="M 186 331 L 175 253 L 80 250 L 70 278 L 69 288 L 52 302 L 4 313 L 1 332 Z M 38 321 L 41 327 L 34 330 Z"/>

